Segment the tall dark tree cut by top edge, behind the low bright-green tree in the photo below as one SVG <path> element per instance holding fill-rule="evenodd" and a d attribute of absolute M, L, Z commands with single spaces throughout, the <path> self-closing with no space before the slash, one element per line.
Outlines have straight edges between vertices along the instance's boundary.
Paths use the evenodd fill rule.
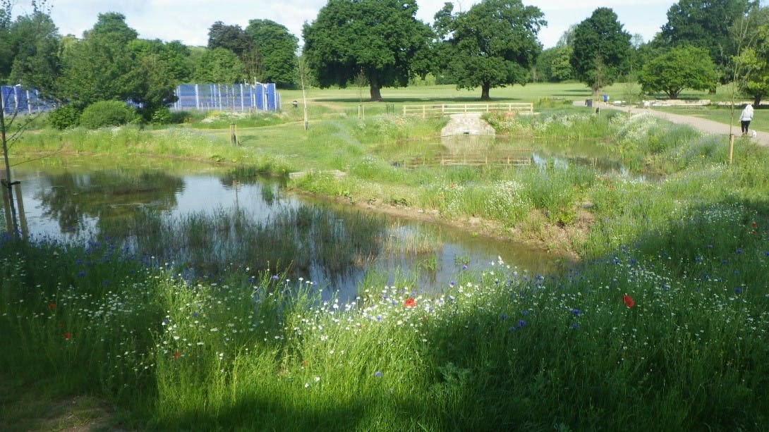
<path fill-rule="evenodd" d="M 667 22 L 657 34 L 657 45 L 681 44 L 705 48 L 724 68 L 734 54 L 729 28 L 748 11 L 751 0 L 680 0 L 667 10 Z"/>

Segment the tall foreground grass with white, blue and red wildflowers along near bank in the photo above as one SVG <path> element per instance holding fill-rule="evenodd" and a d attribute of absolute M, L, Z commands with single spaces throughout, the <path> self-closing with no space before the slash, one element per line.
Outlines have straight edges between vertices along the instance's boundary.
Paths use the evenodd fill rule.
<path fill-rule="evenodd" d="M 6 240 L 0 327 L 24 348 L 2 367 L 113 398 L 121 427 L 763 429 L 767 227 L 765 201 L 715 203 L 561 277 L 497 262 L 349 303 Z"/>

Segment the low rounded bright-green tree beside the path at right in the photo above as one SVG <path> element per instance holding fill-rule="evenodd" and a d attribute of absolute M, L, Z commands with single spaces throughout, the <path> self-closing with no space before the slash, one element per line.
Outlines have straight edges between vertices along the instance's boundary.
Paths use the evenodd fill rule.
<path fill-rule="evenodd" d="M 683 45 L 649 61 L 638 81 L 646 92 L 664 91 L 668 98 L 676 99 L 684 88 L 713 88 L 717 74 L 706 49 Z"/>

